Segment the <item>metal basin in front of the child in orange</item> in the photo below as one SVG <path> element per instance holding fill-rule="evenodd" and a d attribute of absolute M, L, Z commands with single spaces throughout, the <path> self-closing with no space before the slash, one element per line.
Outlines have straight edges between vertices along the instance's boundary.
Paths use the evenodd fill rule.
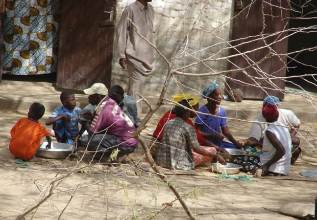
<path fill-rule="evenodd" d="M 47 159 L 65 159 L 74 150 L 74 145 L 52 142 L 51 149 L 46 149 L 47 142 L 43 142 L 35 156 Z"/>

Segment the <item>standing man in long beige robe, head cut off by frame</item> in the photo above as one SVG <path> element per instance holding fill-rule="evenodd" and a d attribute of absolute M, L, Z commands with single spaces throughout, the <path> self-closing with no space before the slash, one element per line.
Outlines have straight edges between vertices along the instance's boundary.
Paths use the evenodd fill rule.
<path fill-rule="evenodd" d="M 136 101 L 141 99 L 137 93 L 143 96 L 143 76 L 149 76 L 155 66 L 155 49 L 136 33 L 155 46 L 154 9 L 148 2 L 152 0 L 137 0 L 128 5 L 117 26 L 117 57 L 121 67 L 129 73 L 128 95 Z M 137 102 L 137 109 L 141 114 L 141 101 Z"/>

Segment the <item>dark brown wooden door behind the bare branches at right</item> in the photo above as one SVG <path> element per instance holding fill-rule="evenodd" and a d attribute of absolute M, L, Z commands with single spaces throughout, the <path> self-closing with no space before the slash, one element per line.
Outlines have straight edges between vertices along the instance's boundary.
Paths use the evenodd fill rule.
<path fill-rule="evenodd" d="M 247 69 L 229 75 L 227 93 L 239 88 L 246 99 L 284 99 L 285 81 L 268 78 L 286 76 L 286 56 L 281 54 L 287 53 L 287 33 L 273 33 L 287 29 L 288 8 L 288 1 L 243 0 L 242 6 L 235 1 L 230 68 Z"/>

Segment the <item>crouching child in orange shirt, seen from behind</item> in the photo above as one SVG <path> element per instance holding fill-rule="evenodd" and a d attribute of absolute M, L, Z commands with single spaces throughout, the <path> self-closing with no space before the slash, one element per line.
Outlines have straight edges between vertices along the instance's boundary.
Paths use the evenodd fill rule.
<path fill-rule="evenodd" d="M 46 148 L 51 148 L 50 133 L 38 121 L 44 112 L 45 107 L 34 102 L 29 108 L 28 118 L 19 119 L 11 129 L 9 150 L 15 158 L 25 161 L 32 159 L 44 136 L 48 143 Z"/>

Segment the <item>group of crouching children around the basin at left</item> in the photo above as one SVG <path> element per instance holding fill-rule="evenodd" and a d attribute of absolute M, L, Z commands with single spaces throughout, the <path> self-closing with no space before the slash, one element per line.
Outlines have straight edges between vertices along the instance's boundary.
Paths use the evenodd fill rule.
<path fill-rule="evenodd" d="M 45 124 L 53 125 L 52 133 L 57 142 L 72 145 L 80 138 L 87 150 L 97 155 L 118 149 L 111 162 L 120 163 L 138 146 L 138 141 L 132 137 L 137 121 L 135 99 L 125 95 L 119 85 L 112 86 L 108 92 L 103 83 L 94 83 L 84 93 L 89 95 L 89 104 L 81 109 L 76 106 L 74 92 L 64 90 L 60 94 L 62 106 L 54 109 Z M 39 122 L 44 112 L 42 104 L 33 103 L 28 117 L 20 119 L 12 128 L 9 150 L 15 158 L 36 159 L 44 136 L 48 143 L 46 147 L 51 148 L 50 132 Z"/>

